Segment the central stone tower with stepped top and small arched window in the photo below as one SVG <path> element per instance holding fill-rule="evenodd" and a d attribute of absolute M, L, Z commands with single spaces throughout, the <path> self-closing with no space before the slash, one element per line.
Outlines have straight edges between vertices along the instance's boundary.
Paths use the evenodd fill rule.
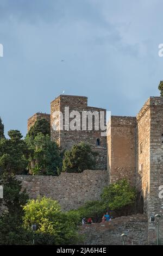
<path fill-rule="evenodd" d="M 57 112 L 62 113 L 63 122 Z M 73 118 L 70 113 L 76 115 L 76 112 L 80 113 L 80 127 L 78 130 L 71 130 L 70 123 Z M 92 113 L 92 129 L 88 130 L 86 125 L 86 130 L 83 130 L 82 114 L 88 112 Z M 106 115 L 103 108 L 87 106 L 87 97 L 85 96 L 60 95 L 51 102 L 51 138 L 57 141 L 61 149 L 70 149 L 74 144 L 82 141 L 89 143 L 92 149 L 97 152 L 96 168 L 106 169 L 106 137 L 101 135 L 100 127 L 99 130 L 95 130 L 95 117 L 93 115 L 93 113 L 100 115 L 100 112 L 104 112 Z M 70 118 L 67 120 L 69 115 Z M 86 120 L 88 124 L 88 119 Z M 60 129 L 61 125 L 63 129 Z"/>

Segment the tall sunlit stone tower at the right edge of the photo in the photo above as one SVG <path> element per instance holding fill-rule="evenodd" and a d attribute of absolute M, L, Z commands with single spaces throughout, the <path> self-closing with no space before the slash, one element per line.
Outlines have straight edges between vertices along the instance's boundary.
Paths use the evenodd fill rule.
<path fill-rule="evenodd" d="M 136 119 L 136 187 L 145 201 L 152 242 L 156 240 L 156 225 L 151 223 L 151 215 L 162 216 L 163 239 L 163 196 L 159 195 L 163 185 L 163 97 L 149 97 Z"/>

